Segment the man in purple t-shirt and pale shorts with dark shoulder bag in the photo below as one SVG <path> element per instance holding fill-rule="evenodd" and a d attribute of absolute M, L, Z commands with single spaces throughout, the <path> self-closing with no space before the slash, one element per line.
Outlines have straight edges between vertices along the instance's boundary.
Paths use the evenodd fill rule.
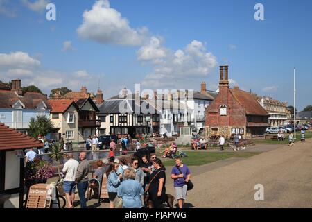
<path fill-rule="evenodd" d="M 189 167 L 186 164 L 182 163 L 180 157 L 175 158 L 175 164 L 175 167 L 171 170 L 171 178 L 174 180 L 175 198 L 179 208 L 183 208 L 187 196 L 187 182 L 191 178 L 191 171 L 189 171 Z"/>

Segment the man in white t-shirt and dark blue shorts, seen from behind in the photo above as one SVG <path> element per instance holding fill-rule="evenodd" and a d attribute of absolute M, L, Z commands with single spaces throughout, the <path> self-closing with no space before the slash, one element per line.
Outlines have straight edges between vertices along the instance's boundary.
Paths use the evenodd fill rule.
<path fill-rule="evenodd" d="M 76 190 L 76 173 L 78 170 L 78 161 L 73 159 L 73 153 L 68 153 L 67 157 L 69 160 L 65 162 L 62 169 L 64 173 L 64 192 L 67 200 L 67 208 L 73 208 L 73 201 L 75 200 L 75 190 Z"/>

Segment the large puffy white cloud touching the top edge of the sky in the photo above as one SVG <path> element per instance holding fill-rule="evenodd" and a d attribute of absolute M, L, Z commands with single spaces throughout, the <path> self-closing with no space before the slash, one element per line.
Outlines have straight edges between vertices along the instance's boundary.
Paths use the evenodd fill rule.
<path fill-rule="evenodd" d="M 141 45 L 146 32 L 146 28 L 131 28 L 128 20 L 120 12 L 110 8 L 107 0 L 96 1 L 92 10 L 85 10 L 83 24 L 77 29 L 78 35 L 85 39 L 120 45 Z"/>

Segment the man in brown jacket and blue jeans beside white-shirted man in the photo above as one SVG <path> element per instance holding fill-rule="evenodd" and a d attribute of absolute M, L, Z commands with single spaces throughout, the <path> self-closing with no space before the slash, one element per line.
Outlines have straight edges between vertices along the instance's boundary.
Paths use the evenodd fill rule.
<path fill-rule="evenodd" d="M 85 198 L 85 191 L 87 191 L 89 183 L 89 162 L 86 159 L 87 153 L 81 152 L 79 154 L 79 160 L 81 161 L 77 173 L 76 173 L 76 184 L 78 188 L 78 194 L 80 198 L 80 207 L 87 207 L 87 200 Z"/>

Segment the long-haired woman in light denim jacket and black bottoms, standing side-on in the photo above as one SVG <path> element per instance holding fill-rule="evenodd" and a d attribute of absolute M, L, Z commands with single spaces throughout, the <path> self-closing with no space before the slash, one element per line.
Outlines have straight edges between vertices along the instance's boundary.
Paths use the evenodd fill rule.
<path fill-rule="evenodd" d="M 114 208 L 114 199 L 117 196 L 117 187 L 120 185 L 120 179 L 116 171 L 118 169 L 118 164 L 112 163 L 106 171 L 107 177 L 107 193 L 110 199 L 110 208 Z"/>

